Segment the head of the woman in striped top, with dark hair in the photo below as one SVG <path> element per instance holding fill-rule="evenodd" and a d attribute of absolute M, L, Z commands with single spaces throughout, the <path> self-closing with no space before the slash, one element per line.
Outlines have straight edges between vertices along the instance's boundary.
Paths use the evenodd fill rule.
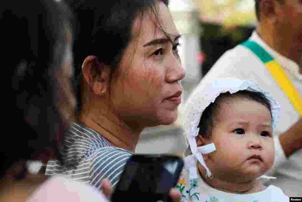
<path fill-rule="evenodd" d="M 69 3 L 79 23 L 73 50 L 81 114 L 103 114 L 138 130 L 176 120 L 182 91 L 177 81 L 185 72 L 168 3 Z"/>

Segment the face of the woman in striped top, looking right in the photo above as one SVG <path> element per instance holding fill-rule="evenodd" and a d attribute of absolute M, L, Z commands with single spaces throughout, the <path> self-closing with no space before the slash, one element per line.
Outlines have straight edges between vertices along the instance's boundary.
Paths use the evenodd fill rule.
<path fill-rule="evenodd" d="M 177 51 L 179 33 L 168 8 L 157 4 L 154 14 L 137 18 L 119 68 L 111 81 L 114 112 L 130 127 L 172 124 L 178 115 L 185 77 Z M 156 24 L 156 23 L 157 24 Z"/>

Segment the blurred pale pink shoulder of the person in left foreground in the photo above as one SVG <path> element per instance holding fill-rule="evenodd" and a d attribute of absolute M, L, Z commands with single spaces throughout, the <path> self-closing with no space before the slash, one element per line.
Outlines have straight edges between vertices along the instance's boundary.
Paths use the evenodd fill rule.
<path fill-rule="evenodd" d="M 75 190 L 81 190 L 76 192 Z M 108 201 L 98 190 L 91 186 L 56 175 L 50 177 L 38 187 L 27 202 L 53 202 L 53 201 Z"/>

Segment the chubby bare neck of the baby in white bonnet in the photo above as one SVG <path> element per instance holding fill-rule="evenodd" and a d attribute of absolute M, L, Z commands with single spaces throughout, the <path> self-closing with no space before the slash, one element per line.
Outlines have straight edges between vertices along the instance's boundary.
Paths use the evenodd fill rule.
<path fill-rule="evenodd" d="M 206 171 L 199 163 L 198 163 L 198 171 L 204 182 L 206 182 L 210 187 L 213 187 L 214 189 L 220 191 L 233 193 L 233 194 L 251 194 L 251 193 L 262 191 L 266 188 L 257 179 L 244 183 L 235 183 L 235 182 L 221 180 L 215 176 L 205 177 Z"/>

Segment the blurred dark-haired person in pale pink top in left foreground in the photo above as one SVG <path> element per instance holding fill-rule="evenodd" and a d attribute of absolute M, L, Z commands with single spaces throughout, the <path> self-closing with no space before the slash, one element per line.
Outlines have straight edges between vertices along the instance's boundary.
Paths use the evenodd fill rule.
<path fill-rule="evenodd" d="M 27 160 L 61 159 L 57 148 L 74 118 L 68 11 L 50 0 L 5 1 L 0 10 L 9 109 L 2 115 L 11 133 L 0 149 L 1 201 L 105 201 L 85 184 L 27 172 Z"/>

